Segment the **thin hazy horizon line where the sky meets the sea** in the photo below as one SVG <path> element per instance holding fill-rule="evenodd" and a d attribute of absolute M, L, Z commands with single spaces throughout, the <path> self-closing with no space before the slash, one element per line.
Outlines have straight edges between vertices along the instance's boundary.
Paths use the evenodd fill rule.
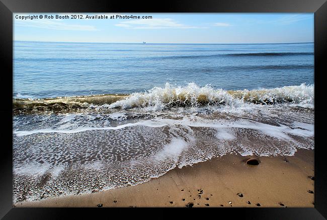
<path fill-rule="evenodd" d="M 13 40 L 20 42 L 42 42 L 42 43 L 111 43 L 111 44 L 304 44 L 314 42 L 288 42 L 288 43 L 123 43 L 123 42 L 74 42 L 74 41 L 33 41 L 33 40 Z"/>

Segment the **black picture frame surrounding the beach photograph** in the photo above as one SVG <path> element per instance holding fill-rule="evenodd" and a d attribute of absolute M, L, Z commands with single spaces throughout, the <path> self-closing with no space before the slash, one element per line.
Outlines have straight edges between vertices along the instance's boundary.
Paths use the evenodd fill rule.
<path fill-rule="evenodd" d="M 324 125 L 327 108 L 324 107 L 325 67 L 323 59 L 327 41 L 327 3 L 325 0 L 224 0 L 224 1 L 165 1 L 141 3 L 139 1 L 42 1 L 42 0 L 0 0 L 0 59 L 3 61 L 1 74 L 0 114 L 3 131 L 0 155 L 0 218 L 3 219 L 62 219 L 68 214 L 74 218 L 88 218 L 100 213 L 106 218 L 113 217 L 113 211 L 123 215 L 127 212 L 145 213 L 144 209 L 129 208 L 17 208 L 12 206 L 13 161 L 12 161 L 12 101 L 13 101 L 13 13 L 46 13 L 46 12 L 117 12 L 117 13 L 314 13 L 314 141 L 315 141 L 315 183 L 314 208 L 207 208 L 205 210 L 187 209 L 195 214 L 214 214 L 228 218 L 240 216 L 249 219 L 324 219 L 327 218 L 327 166 L 325 160 Z M 183 209 L 186 210 L 186 209 Z M 196 210 L 196 211 L 195 211 Z M 172 212 L 158 208 L 156 215 L 170 215 Z M 184 211 L 186 212 L 186 211 Z M 144 214 L 148 215 L 148 214 Z M 155 217 L 155 216 L 153 216 Z"/>

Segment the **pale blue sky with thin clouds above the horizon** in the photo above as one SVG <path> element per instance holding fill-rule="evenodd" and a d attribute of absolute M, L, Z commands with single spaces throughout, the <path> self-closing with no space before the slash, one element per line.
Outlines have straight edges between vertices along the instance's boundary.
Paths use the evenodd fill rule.
<path fill-rule="evenodd" d="M 38 16 L 30 19 L 28 16 Z M 43 16 L 40 19 L 40 15 Z M 53 16 L 45 18 L 45 15 Z M 56 19 L 55 16 L 68 18 Z M 72 19 L 71 16 L 76 16 Z M 87 19 L 106 15 L 108 19 Z M 140 16 L 116 18 L 116 16 Z M 23 17 L 25 16 L 25 17 Z M 83 16 L 83 19 L 78 19 Z M 110 18 L 114 16 L 114 19 Z M 142 19 L 142 16 L 152 16 Z M 25 19 L 27 18 L 27 19 Z M 14 13 L 14 40 L 108 43 L 314 42 L 313 13 Z"/>

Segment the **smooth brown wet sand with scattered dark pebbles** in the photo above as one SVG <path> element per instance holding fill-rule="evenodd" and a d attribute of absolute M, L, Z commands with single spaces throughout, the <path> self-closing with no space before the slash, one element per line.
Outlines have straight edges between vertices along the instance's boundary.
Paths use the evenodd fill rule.
<path fill-rule="evenodd" d="M 259 160 L 257 166 L 247 159 Z M 291 157 L 229 154 L 175 168 L 159 178 L 91 194 L 22 202 L 17 207 L 314 207 L 314 151 Z M 313 179 L 313 180 L 312 180 Z M 308 192 L 311 190 L 312 192 Z"/>

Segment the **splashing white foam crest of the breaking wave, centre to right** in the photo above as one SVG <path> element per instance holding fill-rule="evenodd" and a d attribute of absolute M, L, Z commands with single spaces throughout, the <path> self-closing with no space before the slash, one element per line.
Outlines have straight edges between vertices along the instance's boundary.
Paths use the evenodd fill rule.
<path fill-rule="evenodd" d="M 173 86 L 166 83 L 165 88 L 154 87 L 145 93 L 133 93 L 124 100 L 117 101 L 109 108 L 141 107 L 157 111 L 168 106 L 183 105 L 198 107 L 201 105 L 224 105 L 242 107 L 251 102 L 279 103 L 291 102 L 312 107 L 314 102 L 314 85 L 285 86 L 274 89 L 225 91 L 214 89 L 209 85 L 199 87 L 195 83 L 187 86 Z"/>

